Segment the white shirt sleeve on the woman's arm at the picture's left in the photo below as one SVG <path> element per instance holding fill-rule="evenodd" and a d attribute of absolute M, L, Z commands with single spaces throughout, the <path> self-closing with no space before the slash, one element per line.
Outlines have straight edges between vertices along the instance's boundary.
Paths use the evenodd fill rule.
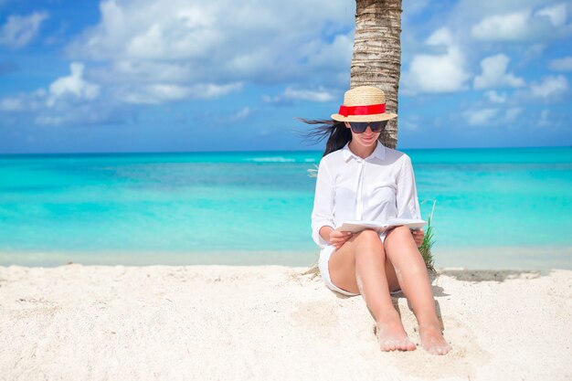
<path fill-rule="evenodd" d="M 329 243 L 320 236 L 324 226 L 334 228 L 334 179 L 322 160 L 318 167 L 312 210 L 312 239 L 320 248 Z"/>

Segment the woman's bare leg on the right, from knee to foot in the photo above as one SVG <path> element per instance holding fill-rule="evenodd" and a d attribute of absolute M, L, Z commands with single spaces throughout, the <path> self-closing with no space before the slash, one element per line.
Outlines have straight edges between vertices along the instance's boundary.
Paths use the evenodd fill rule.
<path fill-rule="evenodd" d="M 447 354 L 450 345 L 441 333 L 427 268 L 409 228 L 398 227 L 389 231 L 384 246 L 401 289 L 417 317 L 421 345 L 434 355 Z"/>

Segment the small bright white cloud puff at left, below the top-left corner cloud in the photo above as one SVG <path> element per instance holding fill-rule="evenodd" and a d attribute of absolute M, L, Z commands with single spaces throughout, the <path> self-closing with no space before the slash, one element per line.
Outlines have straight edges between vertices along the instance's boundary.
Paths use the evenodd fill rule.
<path fill-rule="evenodd" d="M 98 85 L 83 79 L 83 64 L 73 62 L 69 69 L 69 76 L 58 78 L 49 85 L 48 107 L 52 107 L 62 97 L 73 96 L 78 100 L 90 101 L 100 94 Z"/>

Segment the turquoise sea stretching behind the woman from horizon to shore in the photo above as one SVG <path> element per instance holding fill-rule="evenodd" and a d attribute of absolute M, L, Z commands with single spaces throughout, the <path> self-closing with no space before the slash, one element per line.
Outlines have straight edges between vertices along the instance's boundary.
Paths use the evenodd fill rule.
<path fill-rule="evenodd" d="M 572 269 L 572 147 L 403 151 L 438 267 Z M 0 155 L 0 265 L 311 265 L 320 158 Z"/>

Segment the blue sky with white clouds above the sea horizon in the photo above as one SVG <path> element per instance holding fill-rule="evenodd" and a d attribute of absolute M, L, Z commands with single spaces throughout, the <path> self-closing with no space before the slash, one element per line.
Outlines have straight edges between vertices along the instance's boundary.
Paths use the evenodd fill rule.
<path fill-rule="evenodd" d="M 351 0 L 0 0 L 0 153 L 322 149 Z M 572 144 L 572 2 L 404 0 L 397 148 Z"/>

